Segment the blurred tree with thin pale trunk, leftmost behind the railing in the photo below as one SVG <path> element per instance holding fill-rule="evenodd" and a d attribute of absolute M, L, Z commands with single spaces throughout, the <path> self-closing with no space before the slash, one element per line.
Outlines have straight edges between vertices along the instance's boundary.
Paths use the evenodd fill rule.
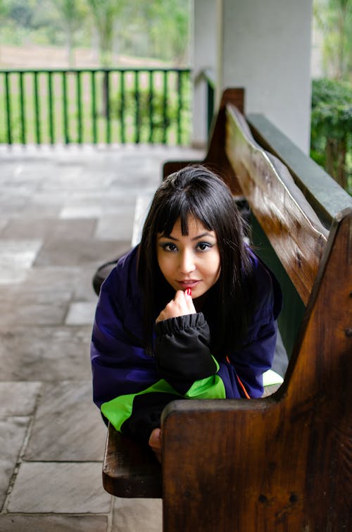
<path fill-rule="evenodd" d="M 63 30 L 67 37 L 68 65 L 74 66 L 73 49 L 75 47 L 75 32 L 85 18 L 84 6 L 77 0 L 51 0 L 61 18 Z"/>

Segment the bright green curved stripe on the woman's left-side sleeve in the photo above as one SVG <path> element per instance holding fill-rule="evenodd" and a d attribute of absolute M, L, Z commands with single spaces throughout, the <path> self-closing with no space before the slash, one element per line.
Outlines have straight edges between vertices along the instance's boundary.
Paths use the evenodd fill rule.
<path fill-rule="evenodd" d="M 144 393 L 151 392 L 174 393 L 175 395 L 180 395 L 175 392 L 170 384 L 161 379 L 161 381 L 157 381 L 155 384 L 149 386 L 149 388 L 146 388 L 146 390 L 142 390 L 142 392 L 119 395 L 119 397 L 115 397 L 115 399 L 112 399 L 111 401 L 104 402 L 101 405 L 101 412 L 115 427 L 116 431 L 120 431 L 122 423 L 124 423 L 132 414 L 134 397 L 136 397 L 136 395 L 143 395 Z M 180 397 L 182 397 L 182 395 L 180 395 Z"/>

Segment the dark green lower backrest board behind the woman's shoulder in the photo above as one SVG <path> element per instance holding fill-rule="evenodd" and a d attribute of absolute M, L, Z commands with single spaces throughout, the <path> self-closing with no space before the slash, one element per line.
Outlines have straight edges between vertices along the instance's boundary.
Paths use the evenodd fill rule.
<path fill-rule="evenodd" d="M 253 250 L 262 259 L 262 261 L 275 274 L 282 289 L 284 304 L 277 320 L 279 331 L 282 336 L 282 342 L 287 351 L 287 356 L 291 357 L 291 352 L 296 342 L 298 330 L 301 328 L 304 306 L 301 297 L 299 297 L 296 288 L 287 275 L 284 266 L 279 261 L 268 237 L 260 227 L 256 218 L 251 214 L 251 229 Z"/>

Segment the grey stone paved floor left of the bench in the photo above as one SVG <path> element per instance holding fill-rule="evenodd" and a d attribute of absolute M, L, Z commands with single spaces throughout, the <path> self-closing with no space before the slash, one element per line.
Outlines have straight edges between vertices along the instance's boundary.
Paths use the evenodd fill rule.
<path fill-rule="evenodd" d="M 0 531 L 161 531 L 161 500 L 101 484 L 92 275 L 130 248 L 165 147 L 0 147 Z"/>

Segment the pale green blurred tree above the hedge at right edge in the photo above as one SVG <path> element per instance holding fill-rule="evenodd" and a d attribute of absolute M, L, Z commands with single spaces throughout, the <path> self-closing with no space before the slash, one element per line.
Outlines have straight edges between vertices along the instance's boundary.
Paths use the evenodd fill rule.
<path fill-rule="evenodd" d="M 315 0 L 314 16 L 322 31 L 326 74 L 336 80 L 351 80 L 352 0 Z"/>

